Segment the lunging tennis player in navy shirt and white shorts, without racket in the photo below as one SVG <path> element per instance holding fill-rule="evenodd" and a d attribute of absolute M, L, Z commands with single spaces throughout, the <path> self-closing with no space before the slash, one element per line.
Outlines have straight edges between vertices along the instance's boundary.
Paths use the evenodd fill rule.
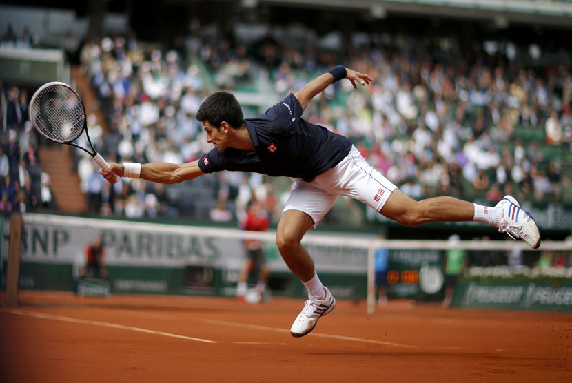
<path fill-rule="evenodd" d="M 318 319 L 336 305 L 300 240 L 308 229 L 318 225 L 338 196 L 360 200 L 403 225 L 478 221 L 497 227 L 514 239 L 520 238 L 533 248 L 540 246 L 535 221 L 512 196 L 505 196 L 495 207 L 445 196 L 413 200 L 371 167 L 349 139 L 301 118 L 314 96 L 342 79 L 351 81 L 354 88 L 356 83 L 365 86 L 373 81 L 367 74 L 336 66 L 260 116 L 247 119 L 232 94 L 216 92 L 205 99 L 196 114 L 207 133 L 207 142 L 214 144 L 209 153 L 182 165 L 112 163 L 110 172 L 100 170 L 110 182 L 117 174 L 156 183 L 180 183 L 221 170 L 292 178 L 295 186 L 278 222 L 276 245 L 286 265 L 309 293 L 290 329 L 295 337 L 312 331 Z"/>

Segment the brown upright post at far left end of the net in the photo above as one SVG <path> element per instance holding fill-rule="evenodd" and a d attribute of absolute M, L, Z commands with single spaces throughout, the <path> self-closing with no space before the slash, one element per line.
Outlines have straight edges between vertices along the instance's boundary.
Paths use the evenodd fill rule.
<path fill-rule="evenodd" d="M 6 306 L 18 305 L 18 282 L 20 274 L 20 252 L 22 247 L 22 216 L 10 217 L 10 245 L 6 270 Z"/>

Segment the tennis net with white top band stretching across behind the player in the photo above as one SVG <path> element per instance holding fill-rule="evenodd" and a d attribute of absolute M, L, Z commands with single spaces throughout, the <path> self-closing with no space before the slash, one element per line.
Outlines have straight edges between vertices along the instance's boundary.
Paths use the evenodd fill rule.
<path fill-rule="evenodd" d="M 11 243 L 17 241 L 14 238 L 18 238 L 19 225 L 20 247 Z M 246 239 L 261 240 L 264 244 L 272 295 L 306 296 L 303 284 L 280 258 L 273 231 L 23 214 L 21 224 L 14 221 L 14 216 L 11 221 L 3 220 L 3 234 L 3 286 L 6 286 L 7 301 L 8 291 L 16 291 L 17 304 L 70 304 L 111 293 L 234 296 L 245 258 Z M 105 253 L 103 276 L 85 273 L 86 249 L 95 238 L 101 240 Z M 320 279 L 334 296 L 367 300 L 370 313 L 379 298 L 385 296 L 390 300 L 446 299 L 447 258 L 459 251 L 467 258 L 497 256 L 506 261 L 519 254 L 521 258 L 520 265 L 508 269 L 466 269 L 467 281 L 460 284 L 462 289 L 456 289 L 452 297 L 453 303 L 460 305 L 487 306 L 505 299 L 502 294 L 510 289 L 503 287 L 502 280 L 491 287 L 494 278 L 504 278 L 509 284 L 515 278 L 521 282 L 523 278 L 536 278 L 527 283 L 540 281 L 542 286 L 554 284 L 554 278 L 560 278 L 564 286 L 560 293 L 553 291 L 553 296 L 568 293 L 566 283 L 572 280 L 569 267 L 558 271 L 560 274 L 554 271 L 555 274 L 533 275 L 533 263 L 541 256 L 551 254 L 555 258 L 572 254 L 572 244 L 566 242 L 543 242 L 542 251 L 530 251 L 523 242 L 513 241 L 382 240 L 374 235 L 337 232 L 308 233 L 303 244 L 314 258 Z M 9 278 L 10 269 L 16 267 L 16 262 L 8 262 L 12 252 L 18 260 L 17 270 L 12 271 L 17 275 L 16 280 Z M 531 267 L 523 265 L 527 263 Z M 571 275 L 567 276 L 566 272 Z M 538 279 L 540 277 L 544 279 Z M 482 284 L 483 280 L 489 284 Z M 525 299 L 526 291 L 534 288 L 529 284 L 522 286 L 516 291 L 521 291 L 520 298 Z M 572 297 L 572 287 L 570 289 Z M 496 293 L 501 294 L 500 298 L 495 298 Z M 567 302 L 565 296 L 561 298 L 558 299 Z M 526 306 L 516 298 L 514 302 L 517 308 Z"/>

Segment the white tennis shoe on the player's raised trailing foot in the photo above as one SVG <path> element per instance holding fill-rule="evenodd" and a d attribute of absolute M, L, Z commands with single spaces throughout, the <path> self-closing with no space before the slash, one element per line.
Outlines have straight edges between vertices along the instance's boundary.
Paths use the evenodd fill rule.
<path fill-rule="evenodd" d="M 520 238 L 533 249 L 540 246 L 540 231 L 534 218 L 520 205 L 513 196 L 504 196 L 495 207 L 502 208 L 503 215 L 498 223 L 498 231 L 507 233 L 513 240 Z"/>

